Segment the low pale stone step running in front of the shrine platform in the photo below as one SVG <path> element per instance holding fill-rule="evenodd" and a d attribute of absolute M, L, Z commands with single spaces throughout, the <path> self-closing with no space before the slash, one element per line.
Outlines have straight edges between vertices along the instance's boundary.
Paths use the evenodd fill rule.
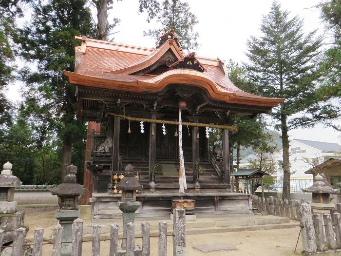
<path fill-rule="evenodd" d="M 135 219 L 135 231 L 141 231 L 141 223 L 148 222 L 150 223 L 150 230 L 158 231 L 159 222 L 166 221 L 168 229 L 171 229 L 172 221 L 170 219 L 167 220 L 140 220 L 141 218 Z M 96 221 L 92 223 L 84 223 L 83 234 L 92 234 L 93 227 L 92 225 L 98 224 L 101 225 L 101 233 L 110 233 L 110 225 L 116 223 L 119 226 L 119 230 L 122 231 L 123 222 L 122 219 L 114 219 L 112 221 Z M 260 227 L 267 225 L 283 225 L 283 224 L 294 224 L 294 226 L 298 225 L 298 222 L 290 220 L 286 217 L 275 217 L 275 216 L 252 216 L 251 217 L 243 217 L 243 215 L 238 215 L 238 217 L 216 217 L 216 218 L 197 218 L 196 220 L 191 220 L 186 222 L 186 234 L 189 230 L 197 230 L 203 231 L 203 233 L 209 233 L 206 230 L 227 230 L 227 231 L 219 231 L 219 232 L 229 232 L 229 229 L 238 228 L 238 227 L 248 227 L 246 230 L 250 230 L 251 227 Z M 274 228 L 272 228 L 274 229 Z M 257 230 L 257 229 L 254 229 Z M 235 230 L 233 230 L 235 231 Z M 230 231 L 232 232 L 232 231 Z M 215 233 L 215 232 L 211 232 Z M 193 232 L 194 234 L 194 232 Z"/>

